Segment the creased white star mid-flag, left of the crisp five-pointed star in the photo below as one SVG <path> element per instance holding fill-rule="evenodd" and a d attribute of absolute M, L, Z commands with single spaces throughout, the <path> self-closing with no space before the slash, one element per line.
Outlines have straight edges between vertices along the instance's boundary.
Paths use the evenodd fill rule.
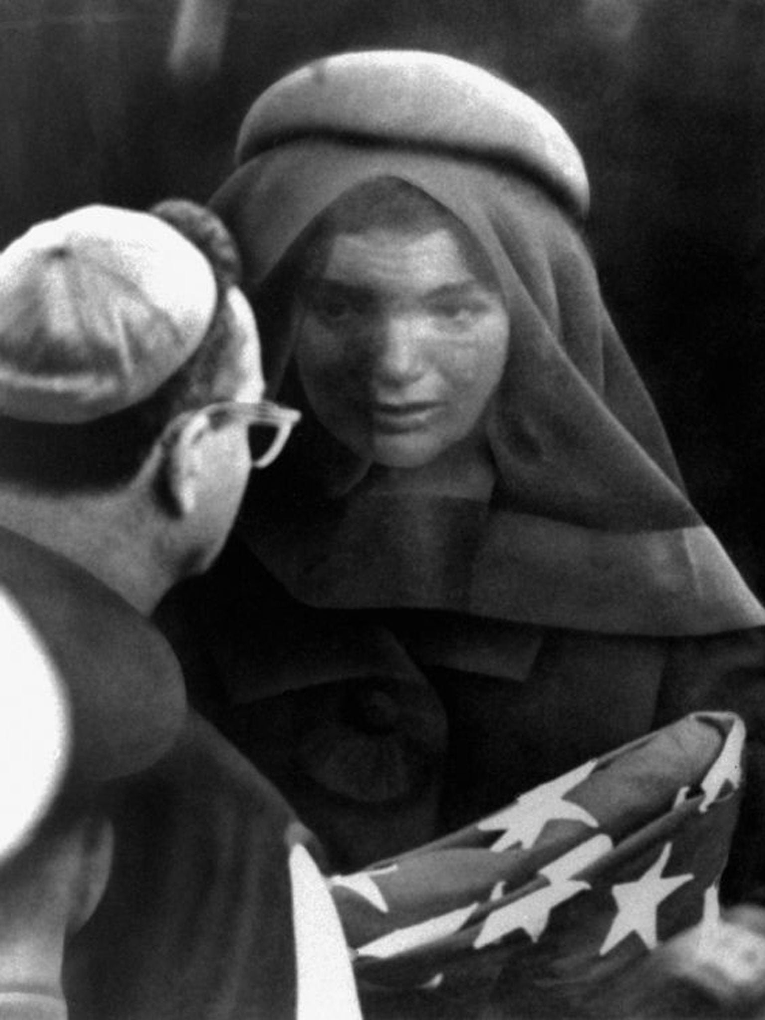
<path fill-rule="evenodd" d="M 609 836 L 596 835 L 568 854 L 564 854 L 559 860 L 553 861 L 546 868 L 542 868 L 540 874 L 547 878 L 550 884 L 490 914 L 473 942 L 473 948 L 479 950 L 491 942 L 497 942 L 511 931 L 525 931 L 531 941 L 538 941 L 548 926 L 553 907 L 591 887 L 590 882 L 571 879 L 571 875 L 575 875 L 603 857 L 612 848 L 613 843 Z"/>

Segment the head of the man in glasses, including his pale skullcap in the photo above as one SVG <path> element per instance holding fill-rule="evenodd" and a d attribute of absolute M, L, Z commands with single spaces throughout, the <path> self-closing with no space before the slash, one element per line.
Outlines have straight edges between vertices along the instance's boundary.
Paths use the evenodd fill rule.
<path fill-rule="evenodd" d="M 0 254 L 0 509 L 58 502 L 62 533 L 76 509 L 104 523 L 119 509 L 161 538 L 168 579 L 203 569 L 234 520 L 258 415 L 224 402 L 263 393 L 238 282 L 225 228 L 181 201 L 80 209 Z"/>

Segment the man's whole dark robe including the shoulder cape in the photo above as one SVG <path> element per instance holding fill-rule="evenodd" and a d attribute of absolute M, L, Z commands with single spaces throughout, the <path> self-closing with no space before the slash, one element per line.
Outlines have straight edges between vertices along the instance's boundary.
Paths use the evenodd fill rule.
<path fill-rule="evenodd" d="M 105 895 L 65 946 L 70 1020 L 294 1018 L 290 851 L 310 834 L 189 709 L 156 627 L 2 528 L 0 553 L 0 588 L 42 636 L 71 719 L 61 787 L 19 856 L 34 866 L 40 843 L 81 816 L 114 829 Z M 4 868 L 0 887 L 15 880 Z"/>

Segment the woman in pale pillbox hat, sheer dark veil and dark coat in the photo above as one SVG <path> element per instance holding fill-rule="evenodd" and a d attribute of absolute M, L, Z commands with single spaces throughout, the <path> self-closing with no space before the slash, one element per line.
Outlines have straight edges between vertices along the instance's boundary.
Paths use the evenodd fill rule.
<path fill-rule="evenodd" d="M 304 417 L 166 607 L 193 698 L 335 868 L 737 711 L 744 895 L 765 860 L 765 616 L 604 307 L 571 140 L 486 70 L 367 52 L 273 85 L 237 162 L 212 206 L 271 394 Z"/>

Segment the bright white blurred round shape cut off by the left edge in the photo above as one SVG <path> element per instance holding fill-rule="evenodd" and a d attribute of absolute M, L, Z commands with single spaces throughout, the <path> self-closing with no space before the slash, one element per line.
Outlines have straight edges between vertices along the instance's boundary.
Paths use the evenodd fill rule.
<path fill-rule="evenodd" d="M 69 757 L 66 698 L 45 646 L 0 589 L 0 863 L 45 815 Z"/>

